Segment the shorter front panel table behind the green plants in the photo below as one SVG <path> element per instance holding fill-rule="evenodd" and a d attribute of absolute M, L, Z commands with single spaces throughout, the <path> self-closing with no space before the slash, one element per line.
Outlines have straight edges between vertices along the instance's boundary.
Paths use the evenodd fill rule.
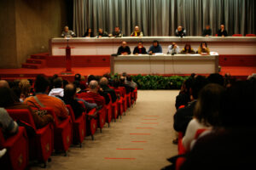
<path fill-rule="evenodd" d="M 119 55 L 111 56 L 111 73 L 211 74 L 218 72 L 218 54 Z"/>

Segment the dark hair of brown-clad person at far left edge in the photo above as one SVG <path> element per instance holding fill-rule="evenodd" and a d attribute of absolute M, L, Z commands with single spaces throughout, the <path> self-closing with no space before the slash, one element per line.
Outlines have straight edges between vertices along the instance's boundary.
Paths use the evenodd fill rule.
<path fill-rule="evenodd" d="M 0 88 L 0 96 L 0 107 L 9 107 L 17 102 L 17 98 L 10 88 Z"/>

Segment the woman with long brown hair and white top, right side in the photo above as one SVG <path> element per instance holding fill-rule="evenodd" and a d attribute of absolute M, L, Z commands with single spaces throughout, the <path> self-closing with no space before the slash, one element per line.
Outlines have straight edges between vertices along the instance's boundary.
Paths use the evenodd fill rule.
<path fill-rule="evenodd" d="M 183 147 L 191 150 L 195 144 L 195 134 L 199 129 L 212 129 L 220 125 L 219 119 L 224 109 L 224 87 L 215 83 L 207 84 L 201 89 L 195 104 L 194 118 L 189 122 L 183 137 Z"/>

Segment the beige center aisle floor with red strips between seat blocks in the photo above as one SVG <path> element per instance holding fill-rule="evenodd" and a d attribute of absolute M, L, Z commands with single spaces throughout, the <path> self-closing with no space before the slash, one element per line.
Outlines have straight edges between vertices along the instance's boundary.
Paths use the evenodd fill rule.
<path fill-rule="evenodd" d="M 126 116 L 106 124 L 83 148 L 73 146 L 68 156 L 51 156 L 47 169 L 160 169 L 177 154 L 173 114 L 177 90 L 138 91 L 137 104 Z M 41 169 L 33 167 L 32 169 Z"/>

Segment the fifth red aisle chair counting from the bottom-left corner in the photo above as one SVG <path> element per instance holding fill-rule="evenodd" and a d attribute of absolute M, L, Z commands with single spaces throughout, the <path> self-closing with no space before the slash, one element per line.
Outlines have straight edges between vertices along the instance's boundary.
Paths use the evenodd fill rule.
<path fill-rule="evenodd" d="M 80 105 L 84 107 L 84 110 L 86 110 L 85 105 L 82 101 L 79 101 Z M 85 114 L 85 136 L 91 136 L 91 139 L 94 140 L 94 134 L 96 132 L 97 128 L 97 122 L 96 122 L 96 109 L 92 109 L 89 112 L 86 112 Z"/>

